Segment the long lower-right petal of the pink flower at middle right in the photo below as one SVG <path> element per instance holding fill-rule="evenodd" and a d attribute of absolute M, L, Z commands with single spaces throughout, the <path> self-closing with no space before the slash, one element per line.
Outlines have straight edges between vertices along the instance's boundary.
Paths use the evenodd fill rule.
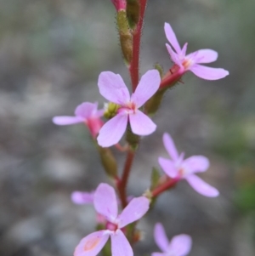
<path fill-rule="evenodd" d="M 196 192 L 200 193 L 203 196 L 215 197 L 219 195 L 217 189 L 212 187 L 212 185 L 207 184 L 196 175 L 187 175 L 185 179 L 187 179 L 187 181 Z"/>

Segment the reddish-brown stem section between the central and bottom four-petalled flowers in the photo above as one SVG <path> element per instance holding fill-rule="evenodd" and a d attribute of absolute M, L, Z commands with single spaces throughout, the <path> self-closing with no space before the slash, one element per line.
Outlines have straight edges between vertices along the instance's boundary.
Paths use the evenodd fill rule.
<path fill-rule="evenodd" d="M 122 202 L 122 208 L 125 208 L 127 206 L 127 194 L 126 194 L 126 188 L 127 188 L 127 181 L 128 177 L 131 171 L 131 167 L 133 164 L 133 157 L 134 157 L 134 151 L 128 151 L 127 152 L 127 159 L 125 162 L 125 166 L 122 173 L 122 179 L 118 182 L 118 191 L 120 194 L 121 202 Z"/>

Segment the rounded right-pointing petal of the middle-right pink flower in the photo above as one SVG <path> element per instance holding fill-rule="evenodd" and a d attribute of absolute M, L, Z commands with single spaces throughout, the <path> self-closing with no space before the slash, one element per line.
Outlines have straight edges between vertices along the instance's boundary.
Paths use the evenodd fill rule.
<path fill-rule="evenodd" d="M 190 156 L 184 160 L 183 165 L 188 174 L 194 174 L 205 172 L 210 162 L 206 156 Z"/>

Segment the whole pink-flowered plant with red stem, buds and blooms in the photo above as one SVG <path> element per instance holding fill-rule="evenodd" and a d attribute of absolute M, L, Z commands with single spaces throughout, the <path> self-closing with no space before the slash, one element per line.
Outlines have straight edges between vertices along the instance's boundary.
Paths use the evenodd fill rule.
<path fill-rule="evenodd" d="M 161 175 L 157 168 L 152 168 L 150 186 L 142 188 L 140 184 L 133 184 L 137 185 L 139 190 L 142 189 L 140 195 L 127 194 L 128 180 L 141 137 L 153 134 L 160 125 L 151 118 L 160 110 L 167 89 L 181 82 L 187 71 L 207 80 L 224 78 L 229 75 L 229 71 L 201 65 L 217 60 L 218 53 L 212 49 L 200 49 L 186 54 L 188 44 L 185 43 L 181 48 L 172 27 L 165 23 L 164 30 L 169 41 L 166 44 L 167 51 L 173 60 L 173 66 L 164 73 L 158 64 L 140 77 L 140 42 L 147 0 L 111 0 L 109 3 L 113 3 L 116 8 L 116 26 L 132 91 L 129 93 L 119 74 L 102 71 L 99 74 L 98 86 L 99 94 L 108 101 L 104 109 L 98 109 L 96 102 L 83 102 L 77 106 L 75 116 L 53 118 L 57 125 L 82 122 L 88 127 L 92 142 L 99 152 L 102 169 L 112 185 L 99 181 L 95 191 L 74 191 L 71 194 L 71 200 L 76 204 L 94 205 L 96 226 L 93 233 L 82 238 L 79 243 L 77 241 L 74 256 L 95 256 L 100 252 L 103 256 L 133 256 L 133 244 L 141 241 L 139 219 L 149 213 L 158 196 L 166 191 L 171 192 L 182 179 L 186 179 L 191 187 L 203 196 L 219 195 L 216 188 L 197 176 L 209 168 L 207 157 L 199 155 L 184 159 L 184 153 L 178 153 L 172 137 L 167 133 L 163 134 L 163 145 L 169 158 L 158 158 L 164 174 Z M 106 66 L 105 70 L 109 70 L 109 67 Z M 160 111 L 158 113 L 160 114 Z M 123 136 L 124 134 L 126 136 Z M 120 154 L 126 155 L 123 167 L 120 167 L 112 145 L 115 145 Z M 153 161 L 153 157 L 150 158 Z M 94 175 L 93 172 L 91 174 Z M 110 237 L 111 244 L 108 242 Z M 151 256 L 184 256 L 190 253 L 192 242 L 189 235 L 173 236 L 169 242 L 163 225 L 157 223 L 154 238 L 161 253 L 152 253 Z"/>

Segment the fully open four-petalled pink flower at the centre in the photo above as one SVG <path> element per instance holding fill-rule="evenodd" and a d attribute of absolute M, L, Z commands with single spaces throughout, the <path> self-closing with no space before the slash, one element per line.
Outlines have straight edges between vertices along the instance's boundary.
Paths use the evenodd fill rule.
<path fill-rule="evenodd" d="M 110 100 L 120 108 L 115 117 L 111 118 L 100 129 L 98 143 L 103 147 L 115 145 L 125 133 L 127 122 L 133 134 L 149 135 L 156 130 L 156 124 L 139 111 L 139 107 L 156 93 L 161 77 L 156 70 L 147 71 L 141 78 L 135 92 L 130 97 L 126 84 L 120 75 L 105 71 L 99 75 L 99 92 L 106 100 Z"/>

